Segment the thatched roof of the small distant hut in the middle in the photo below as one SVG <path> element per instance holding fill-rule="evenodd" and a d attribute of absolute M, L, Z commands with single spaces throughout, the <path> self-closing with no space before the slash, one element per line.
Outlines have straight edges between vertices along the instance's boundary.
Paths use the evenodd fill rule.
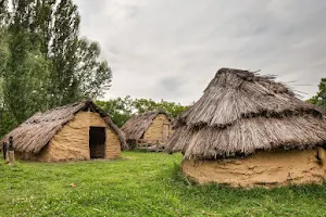
<path fill-rule="evenodd" d="M 164 114 L 168 118 L 168 115 L 163 110 L 141 113 L 134 115 L 128 122 L 126 122 L 121 130 L 124 131 L 127 140 L 140 139 L 143 132 L 160 114 Z"/>

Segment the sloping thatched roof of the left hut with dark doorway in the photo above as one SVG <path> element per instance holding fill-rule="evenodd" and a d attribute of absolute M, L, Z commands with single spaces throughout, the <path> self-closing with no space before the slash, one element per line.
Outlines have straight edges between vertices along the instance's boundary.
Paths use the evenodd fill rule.
<path fill-rule="evenodd" d="M 74 118 L 76 113 L 87 111 L 88 108 L 98 112 L 106 122 L 108 126 L 118 136 L 122 148 L 128 149 L 124 133 L 113 124 L 106 113 L 92 101 L 82 101 L 43 113 L 36 113 L 25 123 L 9 132 L 2 141 L 8 141 L 9 137 L 13 137 L 16 151 L 38 153 L 66 123 Z"/>

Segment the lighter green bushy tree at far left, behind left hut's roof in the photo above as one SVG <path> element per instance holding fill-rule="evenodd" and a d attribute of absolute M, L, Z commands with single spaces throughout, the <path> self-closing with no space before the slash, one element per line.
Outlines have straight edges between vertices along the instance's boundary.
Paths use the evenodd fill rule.
<path fill-rule="evenodd" d="M 4 101 L 17 123 L 47 108 L 50 62 L 33 44 L 33 34 L 15 33 L 9 40 L 11 56 L 4 78 Z"/>

